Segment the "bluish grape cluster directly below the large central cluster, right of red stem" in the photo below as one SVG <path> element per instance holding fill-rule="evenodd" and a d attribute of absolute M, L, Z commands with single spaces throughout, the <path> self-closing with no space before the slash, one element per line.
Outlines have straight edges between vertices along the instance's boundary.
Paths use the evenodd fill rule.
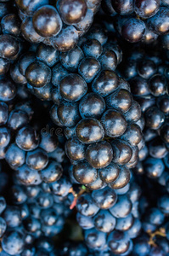
<path fill-rule="evenodd" d="M 132 183 L 123 189 L 99 189 L 78 199 L 76 218 L 91 251 L 99 251 L 100 255 L 132 252 L 132 239 L 142 227 L 138 219 L 139 196 L 140 188 Z"/>

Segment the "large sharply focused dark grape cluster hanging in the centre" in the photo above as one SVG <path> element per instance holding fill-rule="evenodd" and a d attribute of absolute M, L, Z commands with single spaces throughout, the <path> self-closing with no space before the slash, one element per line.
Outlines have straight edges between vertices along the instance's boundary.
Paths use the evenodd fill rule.
<path fill-rule="evenodd" d="M 119 47 L 96 28 L 88 35 L 81 48 L 60 55 L 64 67 L 54 67 L 52 83 L 59 98 L 50 114 L 56 125 L 65 127 L 65 152 L 76 181 L 89 189 L 106 183 L 120 189 L 129 182 L 128 167 L 136 165 L 142 148 L 141 109 L 127 81 L 115 73 Z"/>

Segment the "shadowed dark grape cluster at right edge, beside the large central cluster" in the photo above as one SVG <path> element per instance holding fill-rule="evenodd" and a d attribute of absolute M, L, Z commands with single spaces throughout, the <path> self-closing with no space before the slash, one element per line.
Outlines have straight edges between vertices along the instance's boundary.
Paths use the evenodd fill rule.
<path fill-rule="evenodd" d="M 135 54 L 134 54 L 135 55 Z M 169 143 L 169 96 L 167 66 L 159 56 L 138 55 L 125 70 L 132 95 L 144 115 L 144 139 L 146 145 L 139 151 L 136 172 L 145 172 L 149 177 L 161 177 L 167 168 Z M 165 167 L 166 166 L 166 167 Z"/>

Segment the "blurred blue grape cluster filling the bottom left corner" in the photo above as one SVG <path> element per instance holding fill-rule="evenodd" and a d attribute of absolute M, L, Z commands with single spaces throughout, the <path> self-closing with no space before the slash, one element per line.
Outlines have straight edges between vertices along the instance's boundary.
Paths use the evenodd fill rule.
<path fill-rule="evenodd" d="M 46 183 L 27 187 L 16 183 L 9 191 L 10 205 L 6 206 L 4 198 L 0 198 L 4 253 L 42 255 L 54 251 L 50 237 L 63 229 L 72 201 L 70 184 L 65 184 L 64 179 L 55 184 L 54 193 Z"/>

